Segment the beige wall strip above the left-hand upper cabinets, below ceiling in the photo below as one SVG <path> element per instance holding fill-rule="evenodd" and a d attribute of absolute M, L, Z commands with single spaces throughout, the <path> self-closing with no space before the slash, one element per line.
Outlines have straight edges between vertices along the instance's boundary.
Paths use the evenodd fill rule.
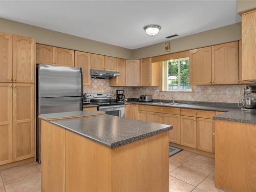
<path fill-rule="evenodd" d="M 40 44 L 97 53 L 120 58 L 131 58 L 132 50 L 103 42 L 60 33 L 12 20 L 0 18 L 0 31 L 33 37 Z"/>

